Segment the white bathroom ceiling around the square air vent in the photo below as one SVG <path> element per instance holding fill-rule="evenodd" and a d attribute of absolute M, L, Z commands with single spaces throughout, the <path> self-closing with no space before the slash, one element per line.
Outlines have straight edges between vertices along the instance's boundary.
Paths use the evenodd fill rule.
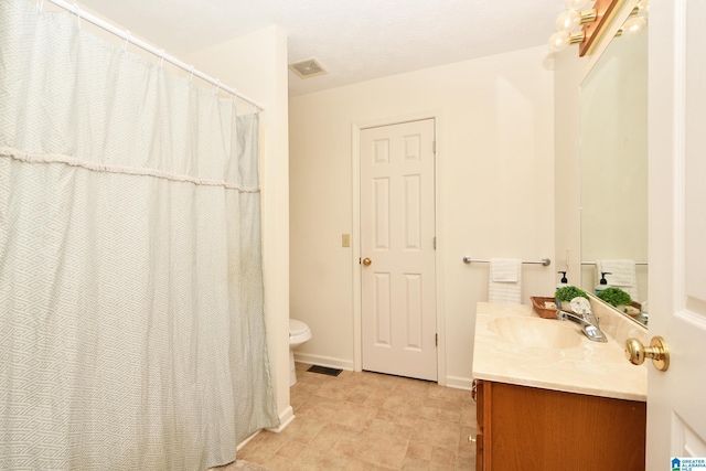
<path fill-rule="evenodd" d="M 546 44 L 563 0 L 82 0 L 180 56 L 276 24 L 289 62 L 314 57 L 328 74 L 289 73 L 291 96 Z"/>

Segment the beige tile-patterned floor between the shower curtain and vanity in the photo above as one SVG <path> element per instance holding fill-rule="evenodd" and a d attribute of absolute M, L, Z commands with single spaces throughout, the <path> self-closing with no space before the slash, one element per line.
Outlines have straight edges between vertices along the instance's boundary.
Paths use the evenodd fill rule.
<path fill-rule="evenodd" d="M 238 459 L 274 471 L 473 470 L 470 392 L 376 373 L 327 376 L 297 364 L 295 420 L 261 431 Z"/>

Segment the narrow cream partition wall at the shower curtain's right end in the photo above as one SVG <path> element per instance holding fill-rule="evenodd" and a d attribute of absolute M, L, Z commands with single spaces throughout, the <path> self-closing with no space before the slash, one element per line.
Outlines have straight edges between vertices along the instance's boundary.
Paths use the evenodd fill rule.
<path fill-rule="evenodd" d="M 276 26 L 184 57 L 265 107 L 260 115 L 265 320 L 277 408 L 282 422 L 289 403 L 289 153 L 287 38 Z M 246 105 L 242 105 L 246 107 Z"/>

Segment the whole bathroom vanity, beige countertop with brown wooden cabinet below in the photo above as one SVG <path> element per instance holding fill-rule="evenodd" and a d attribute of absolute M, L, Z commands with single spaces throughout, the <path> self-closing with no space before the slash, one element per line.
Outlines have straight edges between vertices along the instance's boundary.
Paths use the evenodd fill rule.
<path fill-rule="evenodd" d="M 644 470 L 646 367 L 623 345 L 646 330 L 596 313 L 607 343 L 530 306 L 478 304 L 477 470 Z"/>

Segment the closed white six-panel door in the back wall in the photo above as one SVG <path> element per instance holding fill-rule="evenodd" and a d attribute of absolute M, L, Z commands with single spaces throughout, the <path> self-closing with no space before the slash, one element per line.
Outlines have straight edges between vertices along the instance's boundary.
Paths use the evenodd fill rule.
<path fill-rule="evenodd" d="M 360 147 L 363 370 L 431 381 L 434 126 L 426 119 L 363 129 Z"/>

